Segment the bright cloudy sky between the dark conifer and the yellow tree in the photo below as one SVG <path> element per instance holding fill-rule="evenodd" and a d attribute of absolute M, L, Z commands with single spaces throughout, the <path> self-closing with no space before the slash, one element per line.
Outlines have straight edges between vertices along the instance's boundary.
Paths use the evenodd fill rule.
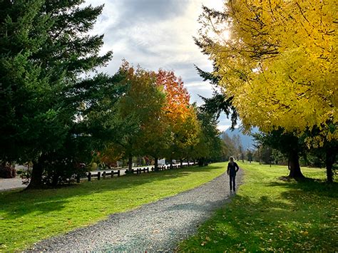
<path fill-rule="evenodd" d="M 200 52 L 193 36 L 198 35 L 202 6 L 222 9 L 222 0 L 86 0 L 86 5 L 104 4 L 91 33 L 104 33 L 101 53 L 113 51 L 112 61 L 102 71 L 113 74 L 122 59 L 147 70 L 163 68 L 180 76 L 190 93 L 190 103 L 203 103 L 215 87 L 203 82 L 194 64 L 211 71 L 208 56 Z M 231 125 L 221 115 L 218 128 Z"/>

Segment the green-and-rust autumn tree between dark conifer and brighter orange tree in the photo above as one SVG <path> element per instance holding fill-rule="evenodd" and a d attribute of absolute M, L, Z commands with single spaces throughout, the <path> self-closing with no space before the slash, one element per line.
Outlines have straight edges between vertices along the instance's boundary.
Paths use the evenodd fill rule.
<path fill-rule="evenodd" d="M 157 85 L 153 71 L 145 71 L 139 66 L 135 69 L 127 61 L 123 62 L 120 71 L 126 75 L 129 88 L 119 103 L 118 117 L 128 123 L 121 125 L 121 138 L 114 146 L 128 158 L 128 170 L 131 170 L 133 156 L 148 155 L 149 147 L 155 149 L 155 145 L 160 144 L 160 138 L 157 138 L 160 132 L 153 126 L 160 118 L 165 94 Z"/>

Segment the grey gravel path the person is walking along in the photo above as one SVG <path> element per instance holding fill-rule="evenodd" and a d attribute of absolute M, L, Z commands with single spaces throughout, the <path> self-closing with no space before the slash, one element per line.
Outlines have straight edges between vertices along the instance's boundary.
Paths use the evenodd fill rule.
<path fill-rule="evenodd" d="M 237 173 L 240 185 L 242 170 Z M 33 251 L 171 252 L 230 200 L 226 173 L 187 192 L 111 215 L 89 227 L 35 245 Z"/>

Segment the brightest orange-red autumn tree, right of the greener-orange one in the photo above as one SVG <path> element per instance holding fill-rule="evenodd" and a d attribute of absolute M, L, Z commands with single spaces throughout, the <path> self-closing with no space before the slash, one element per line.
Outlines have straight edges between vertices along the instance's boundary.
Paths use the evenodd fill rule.
<path fill-rule="evenodd" d="M 163 108 L 168 120 L 170 146 L 166 150 L 166 157 L 188 158 L 188 150 L 198 142 L 200 124 L 195 110 L 190 106 L 190 95 L 183 86 L 181 78 L 177 78 L 173 71 L 158 71 L 158 86 L 163 87 L 166 103 Z"/>

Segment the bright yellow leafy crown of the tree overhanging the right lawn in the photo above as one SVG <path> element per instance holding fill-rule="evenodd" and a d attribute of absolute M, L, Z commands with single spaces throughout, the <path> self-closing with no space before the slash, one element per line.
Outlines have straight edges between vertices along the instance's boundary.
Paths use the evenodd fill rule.
<path fill-rule="evenodd" d="M 337 142 L 336 13 L 334 1 L 230 0 L 205 15 L 201 45 L 247 129 Z"/>

